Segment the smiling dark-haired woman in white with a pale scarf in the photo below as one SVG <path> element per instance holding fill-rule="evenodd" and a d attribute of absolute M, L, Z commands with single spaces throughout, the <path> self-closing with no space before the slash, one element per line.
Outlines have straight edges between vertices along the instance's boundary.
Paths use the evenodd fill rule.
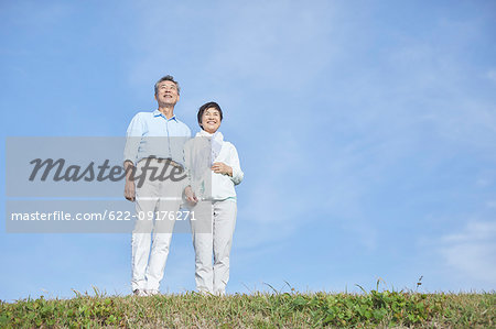
<path fill-rule="evenodd" d="M 234 187 L 244 174 L 236 147 L 218 131 L 220 107 L 216 102 L 203 105 L 197 119 L 202 130 L 186 143 L 184 153 L 191 183 L 184 193 L 194 213 L 195 282 L 201 293 L 225 295 L 237 212 Z"/>

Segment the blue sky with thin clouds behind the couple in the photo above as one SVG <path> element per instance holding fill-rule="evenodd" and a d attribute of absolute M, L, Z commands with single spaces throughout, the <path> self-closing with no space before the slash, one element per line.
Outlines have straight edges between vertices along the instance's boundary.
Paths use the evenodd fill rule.
<path fill-rule="evenodd" d="M 0 131 L 119 136 L 181 84 L 245 180 L 228 293 L 496 287 L 494 1 L 2 1 Z M 130 293 L 129 234 L 13 234 L 0 299 Z M 163 293 L 194 289 L 175 234 Z"/>

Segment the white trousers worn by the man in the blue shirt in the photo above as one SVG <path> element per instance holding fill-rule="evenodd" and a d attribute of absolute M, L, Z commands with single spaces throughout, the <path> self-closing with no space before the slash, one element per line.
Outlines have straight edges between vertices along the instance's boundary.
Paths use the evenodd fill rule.
<path fill-rule="evenodd" d="M 182 189 L 183 182 L 171 179 L 145 179 L 141 187 L 137 183 L 137 219 L 131 238 L 132 290 L 160 288 L 175 218 L 181 206 Z"/>

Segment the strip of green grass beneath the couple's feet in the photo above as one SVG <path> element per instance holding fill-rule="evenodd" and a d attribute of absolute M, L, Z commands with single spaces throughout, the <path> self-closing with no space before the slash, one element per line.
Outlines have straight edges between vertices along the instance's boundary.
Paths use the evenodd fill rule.
<path fill-rule="evenodd" d="M 76 294 L 0 301 L 1 328 L 496 328 L 496 294 Z"/>

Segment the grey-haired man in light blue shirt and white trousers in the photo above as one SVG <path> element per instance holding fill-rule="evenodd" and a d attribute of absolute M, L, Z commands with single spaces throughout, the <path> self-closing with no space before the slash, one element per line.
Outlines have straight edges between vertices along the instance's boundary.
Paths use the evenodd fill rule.
<path fill-rule="evenodd" d="M 136 202 L 137 213 L 131 239 L 131 286 L 137 296 L 159 294 L 184 188 L 184 176 L 177 175 L 184 167 L 183 146 L 191 138 L 190 128 L 174 116 L 177 81 L 168 75 L 154 89 L 159 108 L 134 116 L 125 147 L 125 197 Z"/>

